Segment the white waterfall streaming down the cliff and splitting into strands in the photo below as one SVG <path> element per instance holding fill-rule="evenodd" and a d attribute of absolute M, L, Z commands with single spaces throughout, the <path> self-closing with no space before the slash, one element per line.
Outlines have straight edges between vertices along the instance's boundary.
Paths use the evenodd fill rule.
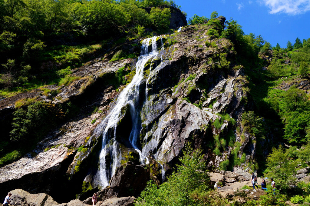
<path fill-rule="evenodd" d="M 160 37 L 162 38 L 162 37 Z M 131 83 L 129 83 L 118 95 L 115 105 L 110 109 L 108 115 L 102 120 L 102 122 L 95 128 L 93 136 L 99 137 L 102 136 L 102 150 L 100 152 L 100 168 L 95 176 L 95 182 L 101 188 L 104 188 L 109 185 L 109 181 L 117 167 L 121 165 L 121 151 L 119 149 L 118 142 L 116 140 L 116 128 L 117 123 L 122 118 L 122 108 L 126 105 L 129 105 L 131 120 L 132 120 L 132 129 L 129 137 L 131 146 L 139 153 L 140 163 L 148 163 L 148 158 L 145 157 L 142 152 L 138 149 L 137 138 L 139 137 L 139 125 L 138 125 L 138 116 L 139 112 L 137 111 L 138 101 L 139 101 L 139 86 L 143 82 L 143 72 L 145 64 L 151 60 L 155 60 L 159 52 L 157 51 L 156 45 L 157 37 L 146 38 L 142 42 L 141 46 L 141 55 L 138 57 L 136 63 L 136 73 L 133 77 Z M 148 52 L 149 44 L 152 45 L 151 52 Z M 163 44 L 162 44 L 163 50 Z M 148 80 L 151 78 L 151 75 L 155 75 L 154 72 L 150 73 Z M 148 82 L 147 80 L 147 82 Z M 147 96 L 146 88 L 146 96 Z M 114 133 L 111 134 L 111 128 L 114 128 Z M 110 155 L 111 161 L 110 165 L 107 165 L 106 161 L 107 155 Z M 109 166 L 109 167 L 108 167 Z M 162 166 L 162 165 L 161 165 Z M 165 170 L 162 166 L 163 178 L 165 175 Z"/>

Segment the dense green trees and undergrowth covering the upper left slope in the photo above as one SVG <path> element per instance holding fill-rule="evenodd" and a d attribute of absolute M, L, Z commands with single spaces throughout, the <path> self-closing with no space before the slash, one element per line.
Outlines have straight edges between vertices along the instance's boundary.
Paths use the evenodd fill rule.
<path fill-rule="evenodd" d="M 0 96 L 58 83 L 58 70 L 82 65 L 120 37 L 165 32 L 170 9 L 179 9 L 172 0 L 6 0 L 0 7 Z"/>

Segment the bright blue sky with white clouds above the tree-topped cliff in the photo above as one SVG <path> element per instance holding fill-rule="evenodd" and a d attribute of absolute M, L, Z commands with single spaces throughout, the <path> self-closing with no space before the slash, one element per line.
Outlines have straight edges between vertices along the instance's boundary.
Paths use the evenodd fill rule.
<path fill-rule="evenodd" d="M 245 34 L 254 33 L 286 47 L 296 37 L 310 38 L 310 0 L 175 0 L 181 10 L 210 18 L 212 11 L 226 19 L 232 17 Z"/>

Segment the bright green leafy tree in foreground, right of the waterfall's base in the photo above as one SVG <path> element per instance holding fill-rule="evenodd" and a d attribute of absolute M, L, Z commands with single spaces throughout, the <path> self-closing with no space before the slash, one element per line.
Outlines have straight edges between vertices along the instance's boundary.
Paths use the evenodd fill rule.
<path fill-rule="evenodd" d="M 187 145 L 180 162 L 181 165 L 177 166 L 177 171 L 173 172 L 159 187 L 148 182 L 135 205 L 190 205 L 193 202 L 192 194 L 195 190 L 206 192 L 210 178 L 205 172 L 206 163 L 203 161 L 201 150 L 193 150 Z"/>

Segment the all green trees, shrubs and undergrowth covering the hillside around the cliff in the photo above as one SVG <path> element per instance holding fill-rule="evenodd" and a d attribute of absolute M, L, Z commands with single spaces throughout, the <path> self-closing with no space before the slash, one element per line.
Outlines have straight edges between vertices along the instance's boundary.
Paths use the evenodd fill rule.
<path fill-rule="evenodd" d="M 149 13 L 146 7 L 152 7 Z M 6 0 L 0 1 L 0 8 L 4 11 L 0 17 L 0 96 L 8 97 L 48 84 L 69 85 L 81 78 L 70 76 L 71 69 L 99 54 L 104 55 L 102 51 L 133 38 L 168 32 L 170 9 L 176 9 L 177 5 L 173 1 L 152 0 Z M 286 48 L 278 44 L 272 47 L 260 35 L 244 34 L 236 20 L 225 21 L 222 26 L 220 18 L 215 11 L 210 18 L 194 15 L 189 19 L 193 30 L 205 29 L 201 34 L 206 32 L 208 36 L 206 39 L 193 37 L 202 43 L 193 48 L 214 52 L 207 62 L 210 70 L 224 75 L 244 70 L 245 77 L 238 80 L 244 85 L 242 90 L 250 95 L 242 99 L 245 111 L 240 115 L 240 125 L 225 111 L 218 113 L 221 120 L 217 118 L 212 127 L 219 129 L 225 121 L 228 132 L 225 137 L 215 136 L 206 147 L 212 154 L 222 155 L 230 146 L 232 151 L 219 164 L 219 169 L 232 171 L 234 167 L 246 165 L 248 171 L 257 172 L 258 176 L 274 178 L 277 190 L 268 187 L 268 193 L 258 201 L 247 200 L 238 191 L 234 196 L 246 199 L 245 202 L 232 201 L 232 197 L 224 199 L 210 190 L 202 150 L 188 145 L 167 181 L 159 186 L 148 182 L 135 205 L 220 206 L 230 202 L 235 206 L 267 206 L 284 205 L 289 199 L 300 204 L 310 201 L 310 183 L 297 182 L 295 177 L 297 170 L 309 166 L 310 158 L 310 38 L 303 41 L 296 38 L 294 45 L 289 41 Z M 178 43 L 173 38 L 174 34 L 166 38 L 165 47 Z M 227 43 L 229 48 L 219 48 L 220 43 Z M 171 52 L 169 60 L 173 60 L 176 50 Z M 136 58 L 136 55 L 119 50 L 109 62 L 126 58 Z M 106 83 L 117 88 L 117 92 L 122 89 L 119 86 L 129 83 L 133 76 L 127 66 L 127 70 L 122 67 L 113 73 Z M 180 84 L 196 76 L 189 74 L 180 79 L 173 93 Z M 87 79 L 87 85 L 92 81 Z M 196 83 L 191 85 L 183 100 L 201 109 L 208 94 L 196 98 Z M 206 92 L 209 87 L 206 82 L 197 85 L 200 92 Z M 59 91 L 53 92 L 54 98 Z M 213 104 L 208 107 L 212 109 Z M 16 102 L 15 108 L 9 137 L 0 139 L 0 166 L 22 157 L 57 123 L 79 112 L 70 101 L 51 104 L 36 102 L 35 98 Z M 93 113 L 97 111 L 98 108 L 94 108 Z M 91 121 L 95 122 L 96 119 Z M 255 157 L 248 162 L 245 153 L 239 154 L 246 132 L 253 137 L 251 143 L 257 145 Z M 234 133 L 240 134 L 239 141 L 234 139 Z M 15 146 L 8 147 L 12 144 Z M 82 151 L 83 148 L 73 149 Z"/>

